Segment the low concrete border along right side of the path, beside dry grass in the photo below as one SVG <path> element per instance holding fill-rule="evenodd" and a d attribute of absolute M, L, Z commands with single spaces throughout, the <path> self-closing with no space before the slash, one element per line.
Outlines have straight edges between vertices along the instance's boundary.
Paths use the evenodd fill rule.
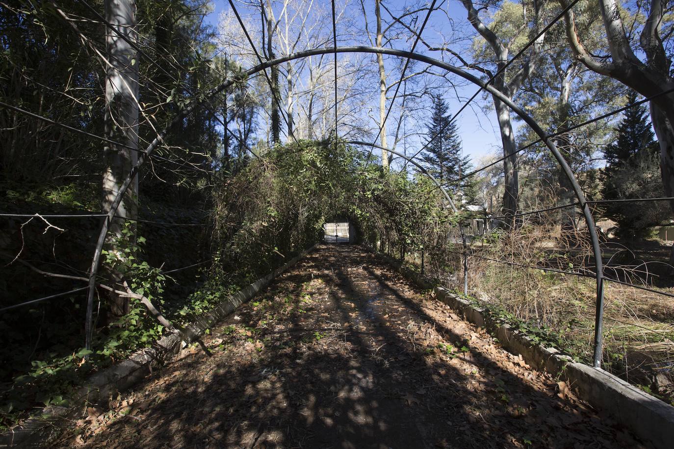
<path fill-rule="evenodd" d="M 375 254 L 419 287 L 432 288 L 436 298 L 450 306 L 464 320 L 494 333 L 504 349 L 522 355 L 526 364 L 564 380 L 582 401 L 630 429 L 643 442 L 657 449 L 673 447 L 674 407 L 671 405 L 601 368 L 574 362 L 571 357 L 553 347 L 532 343 L 529 337 L 491 318 L 485 310 L 460 295 L 444 287 L 434 286 L 437 282 L 433 279 L 402 267 L 400 261 L 386 254 Z"/>

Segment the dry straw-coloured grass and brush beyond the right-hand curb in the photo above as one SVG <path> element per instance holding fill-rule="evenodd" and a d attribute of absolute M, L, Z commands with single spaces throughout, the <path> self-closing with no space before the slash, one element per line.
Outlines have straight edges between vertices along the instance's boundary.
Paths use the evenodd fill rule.
<path fill-rule="evenodd" d="M 592 364 L 596 280 L 589 238 L 541 223 L 517 231 L 494 230 L 464 249 L 458 233 L 449 242 L 425 242 L 425 271 L 450 289 L 463 284 L 468 257 L 469 293 L 493 318 L 508 322 L 534 343 L 551 345 Z M 420 271 L 420 251 L 406 260 Z M 490 260 L 491 259 L 491 260 Z M 518 264 L 518 265 L 509 265 Z M 523 267 L 524 265 L 525 267 Z M 542 269 L 568 271 L 556 273 Z M 643 268 L 609 265 L 612 275 L 648 285 Z M 584 276 L 574 275 L 580 273 Z M 460 293 L 463 293 L 460 289 Z M 602 366 L 643 390 L 674 402 L 674 305 L 669 298 L 617 283 L 604 283 Z"/>

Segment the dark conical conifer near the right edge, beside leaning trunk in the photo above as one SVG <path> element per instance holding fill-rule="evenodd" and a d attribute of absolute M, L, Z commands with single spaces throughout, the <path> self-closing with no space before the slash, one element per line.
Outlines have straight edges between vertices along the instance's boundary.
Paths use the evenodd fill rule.
<path fill-rule="evenodd" d="M 628 104 L 637 94 L 627 96 Z M 603 170 L 604 199 L 663 197 L 658 162 L 658 145 L 644 106 L 627 109 L 617 129 L 617 139 L 604 149 L 607 167 Z M 667 209 L 657 203 L 606 203 L 605 215 L 617 223 L 617 235 L 636 238 L 667 217 Z"/>

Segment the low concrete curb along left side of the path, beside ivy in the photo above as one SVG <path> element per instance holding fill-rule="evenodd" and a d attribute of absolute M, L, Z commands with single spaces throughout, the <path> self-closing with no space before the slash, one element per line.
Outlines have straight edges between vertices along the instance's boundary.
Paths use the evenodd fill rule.
<path fill-rule="evenodd" d="M 307 250 L 291 258 L 265 277 L 257 279 L 244 289 L 234 293 L 221 302 L 212 312 L 197 318 L 195 322 L 185 326 L 188 334 L 185 343 L 196 341 L 204 335 L 206 329 L 222 321 L 232 314 L 241 304 L 247 302 L 255 294 L 269 285 L 276 277 L 295 265 L 301 258 L 316 248 L 314 244 Z M 57 429 L 57 422 L 64 418 L 73 419 L 81 412 L 82 405 L 104 405 L 111 394 L 130 388 L 137 384 L 154 368 L 164 364 L 166 359 L 180 352 L 181 336 L 173 333 L 156 341 L 152 347 L 140 349 L 131 357 L 115 364 L 88 378 L 85 385 L 77 390 L 73 397 L 72 407 L 45 407 L 42 416 L 28 419 L 20 426 L 13 427 L 7 434 L 0 436 L 0 447 L 40 447 Z"/>

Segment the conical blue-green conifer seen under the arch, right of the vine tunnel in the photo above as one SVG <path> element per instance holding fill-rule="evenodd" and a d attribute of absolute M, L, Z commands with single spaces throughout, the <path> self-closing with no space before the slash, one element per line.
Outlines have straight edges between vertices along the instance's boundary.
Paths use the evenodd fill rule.
<path fill-rule="evenodd" d="M 433 115 L 428 127 L 428 145 L 421 162 L 425 168 L 444 184 L 463 176 L 470 170 L 470 160 L 462 155 L 461 139 L 458 136 L 456 123 L 450 121 L 448 106 L 441 96 L 433 96 Z M 474 197 L 474 189 L 462 188 L 458 184 L 450 184 L 448 188 L 463 201 Z"/>

